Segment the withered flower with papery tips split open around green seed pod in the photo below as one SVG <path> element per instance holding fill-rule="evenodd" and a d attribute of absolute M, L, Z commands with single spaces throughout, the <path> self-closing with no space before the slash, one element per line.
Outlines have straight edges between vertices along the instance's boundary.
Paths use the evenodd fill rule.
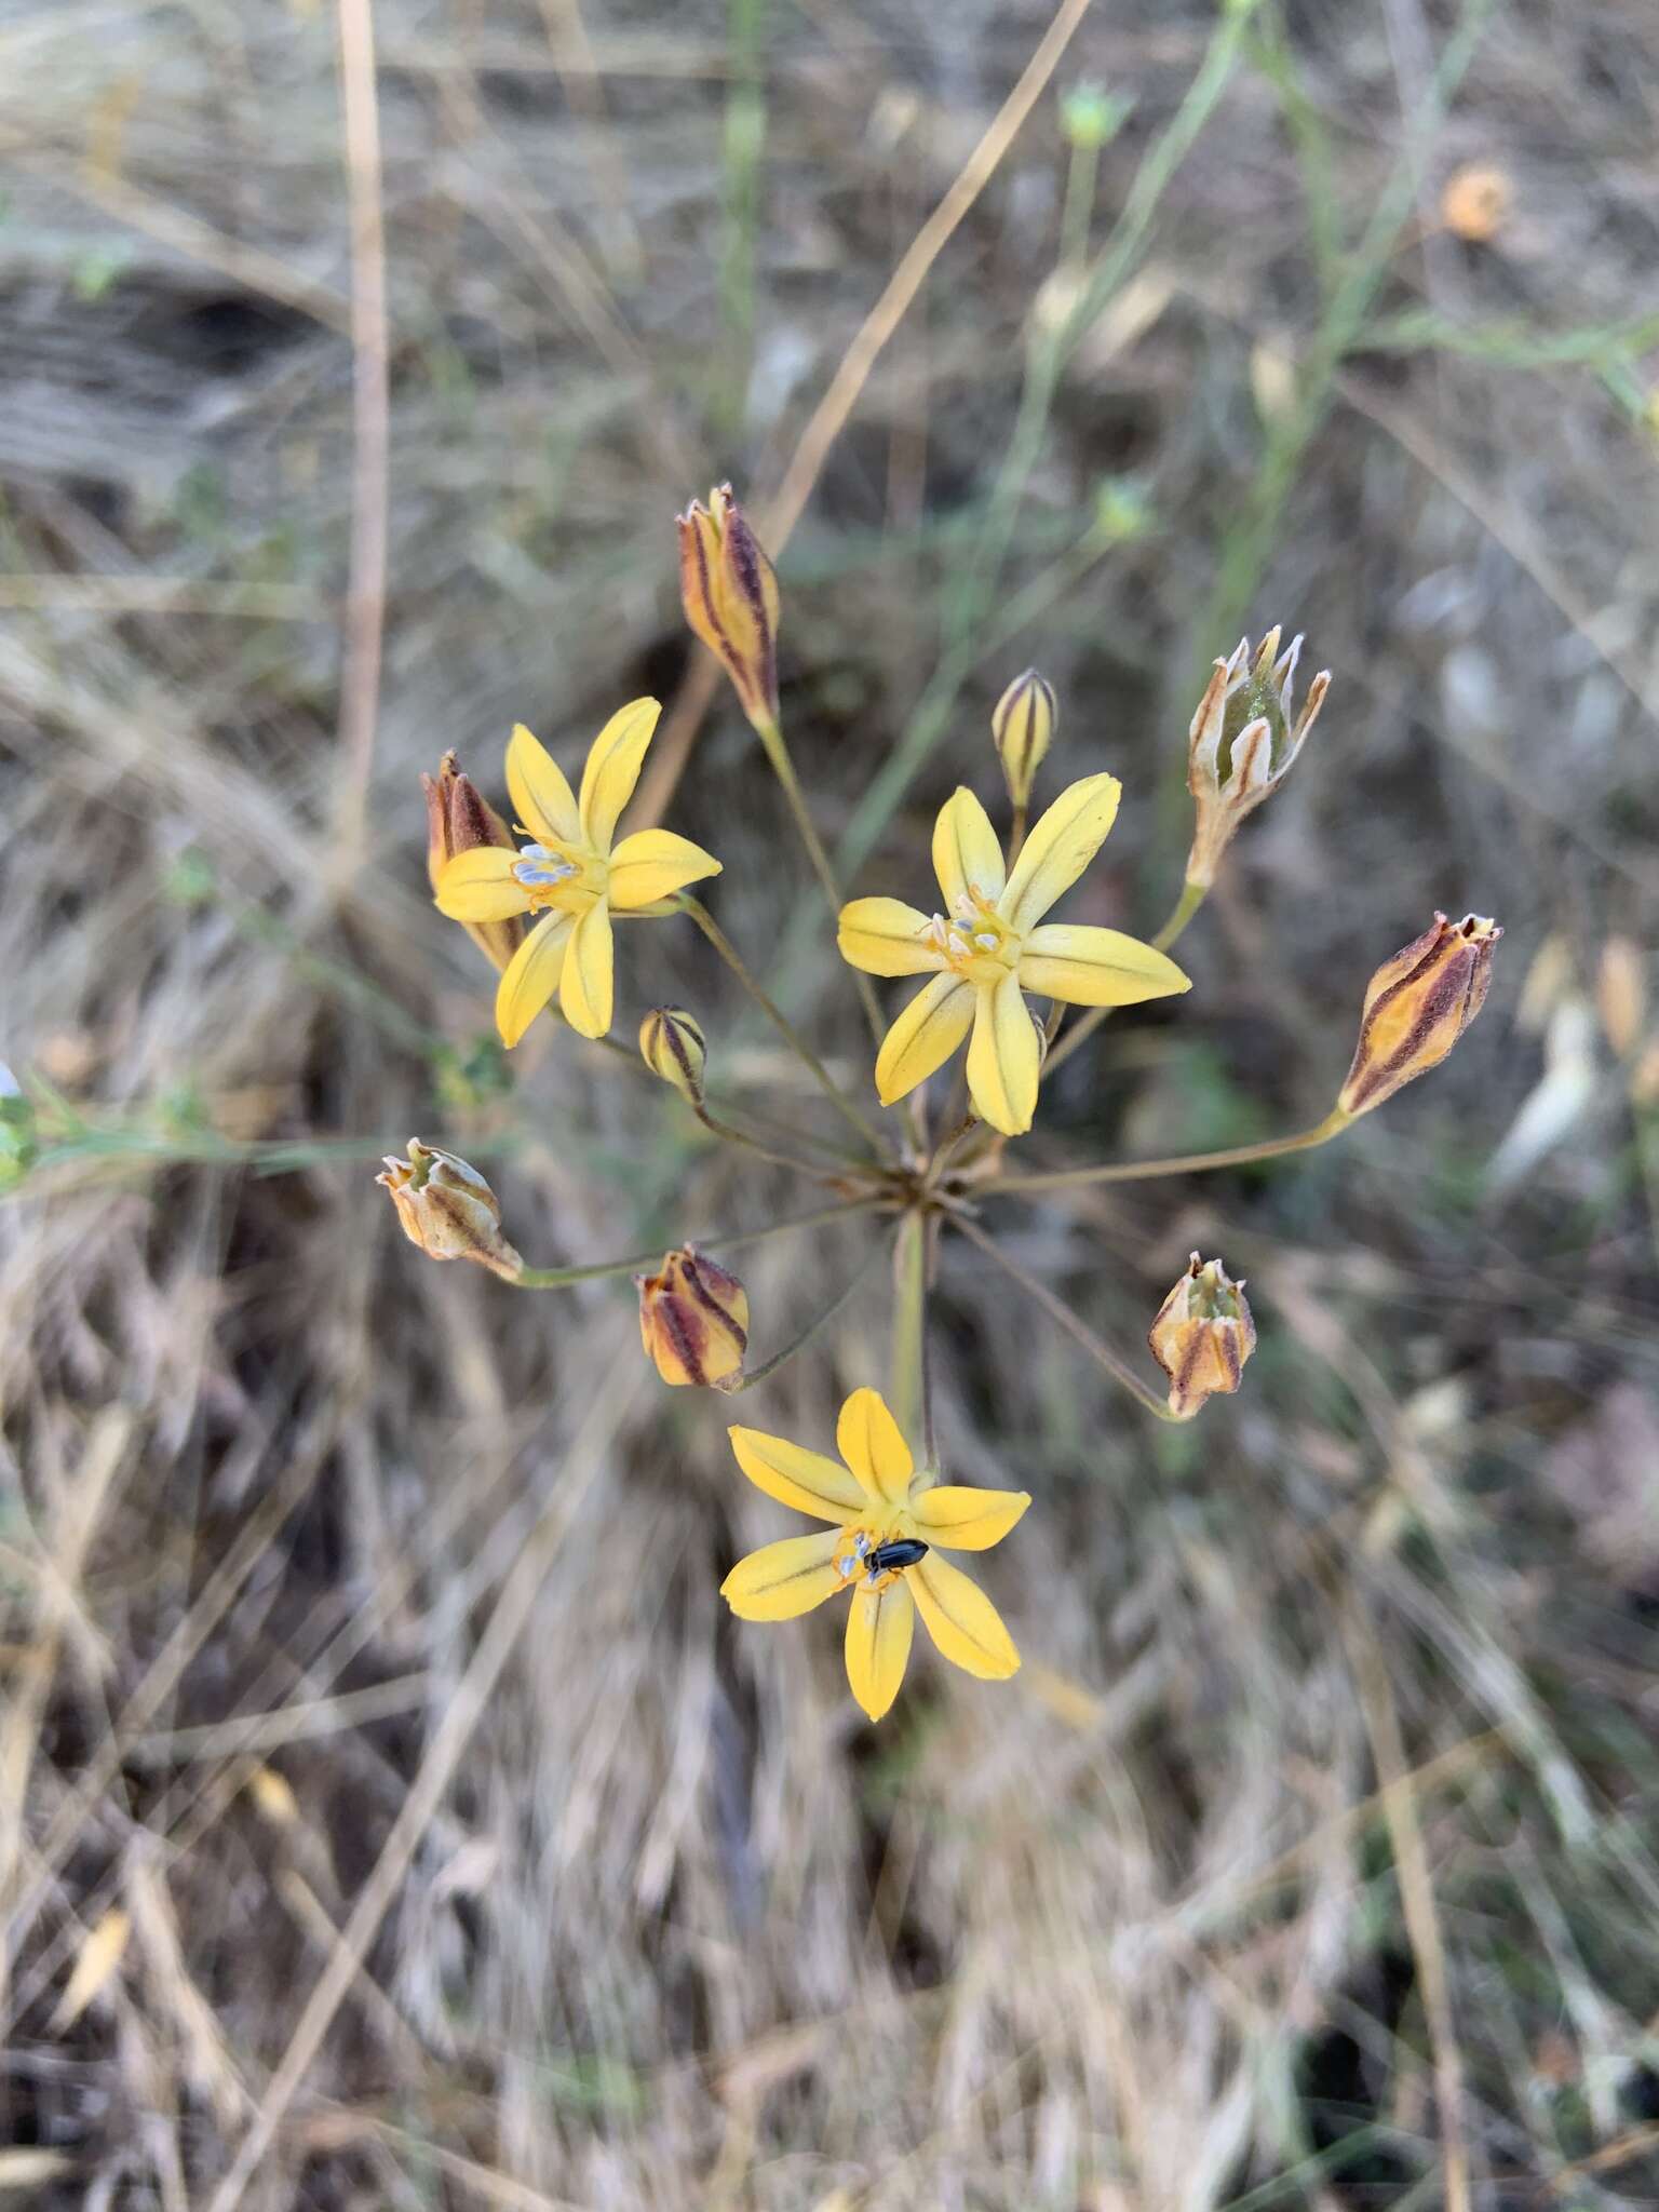
<path fill-rule="evenodd" d="M 1332 677 L 1329 670 L 1314 677 L 1296 714 L 1292 686 L 1301 650 L 1303 641 L 1294 637 L 1285 653 L 1279 653 L 1279 626 L 1274 626 L 1254 657 L 1250 639 L 1241 637 L 1228 659 L 1214 664 L 1188 732 L 1186 787 L 1199 812 L 1186 863 L 1188 883 L 1203 889 L 1214 883 L 1234 830 L 1285 781 L 1303 739 L 1314 728 Z"/>

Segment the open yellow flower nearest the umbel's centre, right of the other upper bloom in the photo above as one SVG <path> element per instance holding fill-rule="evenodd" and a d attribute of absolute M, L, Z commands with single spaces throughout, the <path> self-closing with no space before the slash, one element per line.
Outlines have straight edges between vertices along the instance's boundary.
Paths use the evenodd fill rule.
<path fill-rule="evenodd" d="M 854 898 L 841 909 L 841 958 L 852 967 L 867 975 L 933 975 L 876 1055 L 883 1106 L 925 1082 L 973 1031 L 973 1110 L 1018 1137 L 1031 1128 L 1042 1068 L 1026 991 L 1073 1006 L 1135 1006 L 1190 989 L 1175 960 L 1139 938 L 1042 920 L 1099 852 L 1119 796 L 1117 776 L 1068 785 L 1006 872 L 991 818 L 973 792 L 958 790 L 933 827 L 945 914 L 929 918 L 898 898 Z"/>

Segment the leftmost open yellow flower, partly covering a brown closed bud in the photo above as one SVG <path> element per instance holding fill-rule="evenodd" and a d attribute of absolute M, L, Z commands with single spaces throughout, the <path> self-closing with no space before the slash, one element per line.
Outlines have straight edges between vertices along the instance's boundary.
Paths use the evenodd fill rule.
<path fill-rule="evenodd" d="M 672 830 L 635 830 L 615 843 L 659 714 L 655 699 L 635 699 L 611 717 L 588 750 L 580 796 L 520 723 L 507 748 L 507 790 L 531 843 L 518 852 L 480 845 L 438 874 L 438 911 L 456 922 L 542 916 L 495 991 L 502 1044 L 518 1044 L 555 991 L 571 1029 L 602 1037 L 615 991 L 611 911 L 639 914 L 721 872 L 712 854 Z"/>

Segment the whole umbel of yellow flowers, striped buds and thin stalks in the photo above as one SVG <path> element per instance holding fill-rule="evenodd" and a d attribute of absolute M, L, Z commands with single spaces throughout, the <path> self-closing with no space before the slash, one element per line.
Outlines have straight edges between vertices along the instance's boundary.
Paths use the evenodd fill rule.
<path fill-rule="evenodd" d="M 737 1248 L 843 1219 L 869 1225 L 872 1259 L 891 1239 L 887 1396 L 867 1383 L 852 1389 L 836 1425 L 836 1458 L 768 1429 L 730 1429 L 743 1475 L 821 1528 L 761 1544 L 721 1584 L 745 1621 L 785 1621 L 845 1604 L 847 1683 L 858 1708 L 878 1721 L 905 1679 L 918 1615 L 929 1644 L 967 1674 L 1006 1681 L 1020 1666 L 995 1604 L 951 1557 L 1000 1544 L 1031 1495 L 951 1482 L 940 1464 L 925 1356 L 940 1241 L 960 1237 L 998 1263 L 1148 1416 L 1197 1418 L 1210 1398 L 1243 1383 L 1256 1343 L 1243 1283 L 1219 1259 L 1192 1254 L 1150 1325 L 1148 1343 L 1161 1367 L 1161 1380 L 1152 1383 L 1015 1261 L 995 1234 L 1002 1210 L 1091 1183 L 1228 1168 L 1327 1144 L 1447 1057 L 1480 1011 L 1502 931 L 1475 914 L 1455 925 L 1436 914 L 1429 929 L 1378 967 L 1365 991 L 1354 1062 L 1312 1128 L 1197 1157 L 1009 1168 L 1006 1146 L 1037 1124 L 1044 1084 L 1102 1020 L 1190 989 L 1172 947 L 1203 907 L 1241 823 L 1283 785 L 1303 752 L 1329 675 L 1314 677 L 1298 712 L 1292 686 L 1301 637 L 1281 650 L 1276 628 L 1256 648 L 1241 639 L 1214 664 L 1188 732 L 1192 847 L 1175 909 L 1150 940 L 1051 918 L 1095 860 L 1124 787 L 1115 774 L 1088 768 L 1026 827 L 1060 726 L 1055 688 L 1035 668 L 1006 686 L 991 717 L 991 752 L 1009 799 L 1006 841 L 964 781 L 933 823 L 938 905 L 911 907 L 880 889 L 847 898 L 785 734 L 779 582 L 730 484 L 679 518 L 679 555 L 686 619 L 717 655 L 757 732 L 836 918 L 841 960 L 856 971 L 874 1046 L 860 1077 L 832 1075 L 812 1037 L 692 896 L 690 887 L 717 876 L 721 863 L 655 821 L 619 836 L 657 726 L 655 699 L 635 699 L 611 717 L 588 745 L 577 787 L 520 723 L 507 745 L 511 821 L 445 754 L 438 774 L 422 779 L 434 898 L 498 971 L 495 1024 L 507 1046 L 518 1046 L 538 1015 L 557 1004 L 575 1031 L 568 1051 L 604 1044 L 608 1068 L 624 1079 L 633 1068 L 664 1084 L 677 1110 L 695 1115 L 750 1164 L 792 1175 L 812 1203 L 697 1245 L 668 1223 L 668 1250 L 659 1243 L 648 1254 L 531 1267 L 507 1241 L 489 1181 L 451 1150 L 411 1141 L 407 1161 L 389 1159 L 380 1181 L 405 1234 L 431 1259 L 478 1261 L 522 1290 L 633 1276 L 644 1354 L 661 1380 L 728 1396 L 763 1387 L 787 1360 L 827 1343 L 836 1314 L 865 1281 L 860 1267 L 827 1285 L 827 1301 L 783 1345 L 765 1347 L 763 1327 L 765 1356 L 757 1360 L 748 1292 L 726 1265 Z M 628 1018 L 637 1024 L 637 1053 L 611 1037 L 619 916 L 681 916 L 701 931 L 838 1117 L 836 1137 L 814 1130 L 799 1104 L 779 1135 L 721 1091 L 719 1040 L 710 1046 L 710 1029 L 695 1009 L 661 1002 L 650 933 L 637 960 L 641 1004 Z M 818 980 L 834 971 L 827 960 Z M 920 980 L 920 989 L 887 1020 L 867 978 Z M 821 991 L 814 1018 L 823 1002 Z M 1079 1011 L 1066 1022 L 1071 1009 Z M 962 1046 L 964 1106 L 951 1108 L 940 1095 L 929 1097 L 929 1086 Z M 860 1296 L 860 1312 L 867 1316 L 869 1294 Z M 1026 1635 L 1042 1637 L 1040 1617 Z"/>

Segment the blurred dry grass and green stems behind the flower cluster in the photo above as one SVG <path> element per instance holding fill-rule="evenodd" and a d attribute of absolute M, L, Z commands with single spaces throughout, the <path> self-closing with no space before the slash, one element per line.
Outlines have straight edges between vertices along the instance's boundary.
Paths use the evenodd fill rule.
<path fill-rule="evenodd" d="M 11 0 L 0 77 L 0 2194 L 1655 2203 L 1648 0 Z M 425 887 L 418 770 L 653 690 L 648 801 L 863 1068 L 679 619 L 726 473 L 865 889 L 1037 661 L 1051 790 L 1126 785 L 1068 911 L 1150 933 L 1210 659 L 1334 670 L 1033 1161 L 1301 1128 L 1387 953 L 1506 929 L 1343 1144 L 991 1217 L 1126 1349 L 1250 1276 L 1197 1425 L 947 1245 L 1026 1663 L 878 1732 L 823 1619 L 723 1617 L 781 1515 L 626 1279 L 431 1267 L 369 1181 L 453 1144 L 546 1263 L 799 1210 L 509 1066 Z M 661 998 L 801 1117 L 688 927 L 622 938 Z M 757 1345 L 860 1250 L 757 1248 Z M 745 1418 L 827 1440 L 849 1316 Z"/>

